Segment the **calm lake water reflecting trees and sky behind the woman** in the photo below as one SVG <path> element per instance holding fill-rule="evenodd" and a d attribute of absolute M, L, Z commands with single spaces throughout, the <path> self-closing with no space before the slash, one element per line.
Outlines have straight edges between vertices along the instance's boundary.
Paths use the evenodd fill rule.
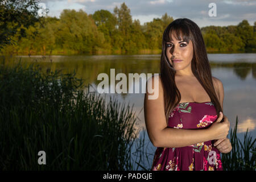
<path fill-rule="evenodd" d="M 127 82 L 129 73 L 159 73 L 160 55 L 112 55 L 112 56 L 19 56 L 23 61 L 33 61 L 43 65 L 45 69 L 51 71 L 62 69 L 64 73 L 76 71 L 76 77 L 85 80 L 86 84 L 91 84 L 97 89 L 101 80 L 97 80 L 100 73 L 108 74 L 110 69 L 115 69 L 115 75 L 125 73 Z M 238 117 L 238 137 L 248 129 L 251 136 L 256 137 L 256 54 L 209 54 L 208 55 L 212 75 L 220 79 L 224 85 L 224 114 L 229 118 L 230 127 L 234 127 L 236 117 Z M 110 84 L 109 88 L 115 84 Z M 134 85 L 142 84 L 137 81 Z M 127 86 L 131 90 L 131 85 Z M 134 106 L 134 112 L 138 116 L 137 129 L 145 127 L 143 114 L 144 93 L 108 94 L 117 97 L 120 102 L 125 102 Z M 148 157 L 150 162 L 156 147 L 152 146 L 148 140 Z M 147 167 L 151 167 L 148 163 Z"/>

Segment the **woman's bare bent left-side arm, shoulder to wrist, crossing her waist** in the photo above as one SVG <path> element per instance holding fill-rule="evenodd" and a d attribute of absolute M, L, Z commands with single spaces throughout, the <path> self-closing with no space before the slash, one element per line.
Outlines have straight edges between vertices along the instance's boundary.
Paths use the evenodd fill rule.
<path fill-rule="evenodd" d="M 146 88 L 147 92 L 144 97 L 144 118 L 148 137 L 155 147 L 185 147 L 214 139 L 216 133 L 210 130 L 210 127 L 202 130 L 173 129 L 167 127 L 164 114 L 163 87 L 160 76 L 155 76 L 155 79 L 151 77 L 148 81 L 152 81 L 152 89 L 154 92 L 148 93 L 148 89 Z M 158 81 L 159 89 L 154 88 L 154 81 Z M 158 92 L 158 98 L 149 100 L 148 96 L 155 94 L 155 92 Z"/>

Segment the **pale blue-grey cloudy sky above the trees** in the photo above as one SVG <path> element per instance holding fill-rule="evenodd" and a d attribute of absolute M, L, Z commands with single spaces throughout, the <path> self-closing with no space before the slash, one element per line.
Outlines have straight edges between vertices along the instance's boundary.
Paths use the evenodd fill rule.
<path fill-rule="evenodd" d="M 114 12 L 123 2 L 130 9 L 131 16 L 143 25 L 167 13 L 174 19 L 189 18 L 199 27 L 237 25 L 246 19 L 251 26 L 256 21 L 256 1 L 243 0 L 41 0 L 49 9 L 48 16 L 59 18 L 64 9 L 82 9 L 87 14 L 97 10 Z M 214 3 L 214 6 L 209 6 Z M 214 8 L 216 7 L 216 9 Z M 209 15 L 210 11 L 210 15 Z M 212 14 L 214 16 L 212 16 Z"/>

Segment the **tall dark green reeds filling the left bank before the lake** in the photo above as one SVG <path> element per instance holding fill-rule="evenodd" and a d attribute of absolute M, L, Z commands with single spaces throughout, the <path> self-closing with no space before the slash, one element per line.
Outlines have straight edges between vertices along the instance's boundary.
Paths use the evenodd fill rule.
<path fill-rule="evenodd" d="M 75 73 L 0 68 L 0 170 L 133 170 L 133 107 L 83 92 Z M 89 85 L 88 85 L 89 86 Z M 139 146 L 138 146 L 139 147 Z M 46 165 L 38 152 L 46 152 Z"/>

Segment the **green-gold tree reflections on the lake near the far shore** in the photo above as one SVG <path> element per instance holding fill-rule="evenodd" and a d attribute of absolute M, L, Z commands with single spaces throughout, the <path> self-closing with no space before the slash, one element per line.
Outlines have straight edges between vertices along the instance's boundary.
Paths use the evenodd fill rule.
<path fill-rule="evenodd" d="M 127 90 L 129 90 L 129 73 L 159 73 L 159 55 L 115 55 L 115 56 L 44 56 L 44 57 L 18 57 L 16 60 L 29 61 L 39 64 L 43 72 L 63 73 L 76 72 L 76 77 L 82 78 L 86 84 L 98 85 L 102 80 L 97 80 L 100 73 L 106 73 L 109 77 L 110 69 L 114 69 L 115 76 L 125 73 L 127 77 Z M 53 61 L 52 61 L 53 60 Z M 222 63 L 210 61 L 212 69 L 227 69 L 232 71 L 241 80 L 252 74 L 256 79 L 256 63 L 237 61 L 236 63 Z M 148 77 L 147 77 L 148 78 Z M 117 84 L 119 80 L 115 81 Z"/>

